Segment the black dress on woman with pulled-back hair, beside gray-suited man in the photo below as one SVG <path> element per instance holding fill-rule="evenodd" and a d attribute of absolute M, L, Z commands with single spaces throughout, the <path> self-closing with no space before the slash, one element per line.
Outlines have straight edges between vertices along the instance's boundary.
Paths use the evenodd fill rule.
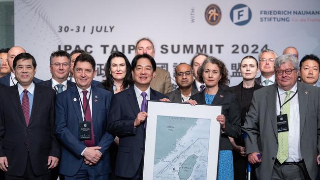
<path fill-rule="evenodd" d="M 246 121 L 246 115 L 249 111 L 254 91 L 263 87 L 255 83 L 254 87 L 252 88 L 244 88 L 242 86 L 242 83 L 243 82 L 241 82 L 237 86 L 229 88 L 229 92 L 236 94 L 236 98 L 239 103 L 241 113 L 241 126 L 243 126 L 244 122 Z M 245 141 L 242 132 L 239 138 L 234 138 L 234 141 L 238 146 L 245 147 Z M 246 180 L 247 163 L 248 157 L 241 156 L 239 152 L 233 150 L 233 172 L 235 180 Z M 251 180 L 256 180 L 254 167 L 252 167 Z"/>

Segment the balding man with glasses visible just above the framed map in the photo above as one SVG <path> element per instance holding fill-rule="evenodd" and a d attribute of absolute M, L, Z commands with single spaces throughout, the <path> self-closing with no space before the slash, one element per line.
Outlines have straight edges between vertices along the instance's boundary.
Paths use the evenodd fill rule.
<path fill-rule="evenodd" d="M 174 69 L 178 89 L 166 93 L 171 102 L 187 102 L 190 96 L 198 93 L 198 90 L 192 88 L 192 68 L 187 63 L 180 63 Z"/>

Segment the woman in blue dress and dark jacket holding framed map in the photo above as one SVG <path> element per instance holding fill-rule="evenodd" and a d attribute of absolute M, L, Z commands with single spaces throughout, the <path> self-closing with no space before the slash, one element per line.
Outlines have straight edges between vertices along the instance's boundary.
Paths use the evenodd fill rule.
<path fill-rule="evenodd" d="M 222 87 L 230 81 L 228 71 L 221 60 L 207 57 L 197 71 L 199 81 L 206 88 L 190 97 L 191 105 L 213 104 L 222 105 L 222 115 L 217 116 L 221 124 L 221 137 L 219 145 L 218 180 L 233 180 L 232 145 L 229 137 L 238 137 L 241 134 L 240 110 L 235 94 Z"/>

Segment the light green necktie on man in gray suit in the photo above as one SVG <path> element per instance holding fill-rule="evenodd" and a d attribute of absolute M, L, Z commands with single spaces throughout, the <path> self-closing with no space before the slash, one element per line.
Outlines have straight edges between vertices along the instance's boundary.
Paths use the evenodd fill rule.
<path fill-rule="evenodd" d="M 286 98 L 284 102 L 286 102 L 290 98 L 291 91 L 286 91 Z M 287 114 L 288 116 L 288 123 L 289 123 L 289 117 L 290 117 L 290 101 L 288 101 L 286 104 L 282 106 L 281 114 Z M 289 132 L 278 132 L 278 152 L 277 152 L 277 159 L 282 164 L 284 163 L 289 155 L 288 151 L 288 134 Z"/>

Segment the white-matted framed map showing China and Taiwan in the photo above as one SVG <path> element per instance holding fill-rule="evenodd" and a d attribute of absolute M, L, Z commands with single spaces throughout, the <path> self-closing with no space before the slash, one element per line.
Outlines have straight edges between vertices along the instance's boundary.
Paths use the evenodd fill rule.
<path fill-rule="evenodd" d="M 144 180 L 215 180 L 221 106 L 148 101 Z"/>

